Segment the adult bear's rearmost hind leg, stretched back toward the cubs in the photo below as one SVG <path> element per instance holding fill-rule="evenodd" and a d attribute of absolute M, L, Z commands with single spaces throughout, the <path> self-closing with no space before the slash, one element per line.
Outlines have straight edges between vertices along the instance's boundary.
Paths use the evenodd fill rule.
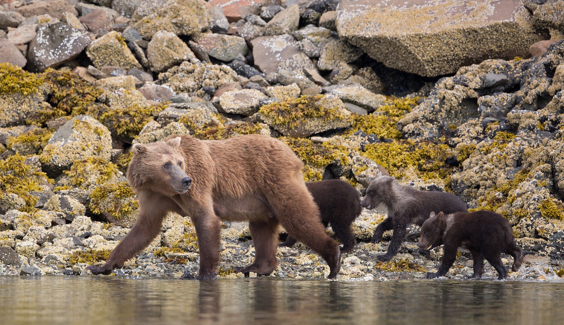
<path fill-rule="evenodd" d="M 331 239 L 321 224 L 319 208 L 308 192 L 300 173 L 290 179 L 277 180 L 266 190 L 267 201 L 288 234 L 318 253 L 329 265 L 328 278 L 337 276 L 341 268 L 338 243 Z"/>

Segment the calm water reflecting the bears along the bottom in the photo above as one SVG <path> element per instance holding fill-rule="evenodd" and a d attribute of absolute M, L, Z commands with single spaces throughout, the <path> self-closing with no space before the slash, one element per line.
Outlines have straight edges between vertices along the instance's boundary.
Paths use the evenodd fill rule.
<path fill-rule="evenodd" d="M 564 284 L 0 277 L 0 324 L 563 324 Z"/>

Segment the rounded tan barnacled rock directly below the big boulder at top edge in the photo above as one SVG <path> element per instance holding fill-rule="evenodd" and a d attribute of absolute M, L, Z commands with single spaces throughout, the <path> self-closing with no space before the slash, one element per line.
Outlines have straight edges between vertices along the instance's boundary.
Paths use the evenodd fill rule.
<path fill-rule="evenodd" d="M 147 60 L 154 72 L 165 72 L 184 61 L 197 59 L 186 43 L 177 35 L 161 30 L 155 33 L 147 46 Z"/>

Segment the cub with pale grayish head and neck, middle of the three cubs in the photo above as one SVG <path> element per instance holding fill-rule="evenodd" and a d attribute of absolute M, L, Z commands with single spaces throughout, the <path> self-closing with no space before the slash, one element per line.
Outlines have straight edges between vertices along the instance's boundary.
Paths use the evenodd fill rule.
<path fill-rule="evenodd" d="M 387 252 L 377 256 L 381 261 L 388 261 L 398 253 L 408 224 L 422 225 L 431 211 L 468 211 L 466 203 L 455 194 L 417 190 L 413 186 L 400 184 L 393 176 L 374 179 L 360 201 L 360 205 L 368 209 L 376 208 L 381 203 L 386 206 L 388 217 L 374 230 L 372 243 L 380 242 L 384 231 L 394 230 Z"/>

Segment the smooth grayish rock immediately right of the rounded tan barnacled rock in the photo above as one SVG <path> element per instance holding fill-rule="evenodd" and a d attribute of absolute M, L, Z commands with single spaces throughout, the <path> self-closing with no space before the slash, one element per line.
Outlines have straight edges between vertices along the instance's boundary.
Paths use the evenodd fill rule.
<path fill-rule="evenodd" d="M 239 54 L 246 55 L 249 50 L 245 39 L 234 35 L 201 34 L 195 41 L 206 49 L 209 56 L 222 61 L 232 61 Z"/>

